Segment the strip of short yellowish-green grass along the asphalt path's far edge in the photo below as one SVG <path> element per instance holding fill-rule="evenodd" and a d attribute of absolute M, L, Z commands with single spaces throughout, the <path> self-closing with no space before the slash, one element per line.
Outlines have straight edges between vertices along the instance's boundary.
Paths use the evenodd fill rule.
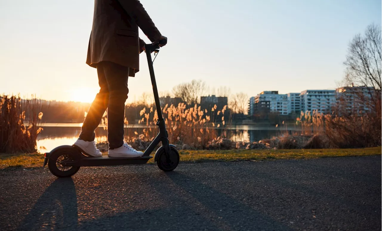
<path fill-rule="evenodd" d="M 206 161 L 262 161 L 275 159 L 312 159 L 341 156 L 382 155 L 382 147 L 360 149 L 309 149 L 309 150 L 180 150 L 182 163 Z M 153 155 L 154 153 L 152 153 Z M 104 155 L 107 155 L 104 153 Z M 149 163 L 154 163 L 151 158 Z M 0 155 L 0 169 L 8 167 L 42 167 L 42 154 Z"/>

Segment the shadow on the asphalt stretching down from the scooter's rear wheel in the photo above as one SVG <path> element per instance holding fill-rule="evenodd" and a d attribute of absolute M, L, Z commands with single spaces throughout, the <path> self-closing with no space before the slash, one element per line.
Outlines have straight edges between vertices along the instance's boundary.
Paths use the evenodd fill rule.
<path fill-rule="evenodd" d="M 73 179 L 58 178 L 39 197 L 18 230 L 75 230 L 77 227 L 77 196 Z"/>

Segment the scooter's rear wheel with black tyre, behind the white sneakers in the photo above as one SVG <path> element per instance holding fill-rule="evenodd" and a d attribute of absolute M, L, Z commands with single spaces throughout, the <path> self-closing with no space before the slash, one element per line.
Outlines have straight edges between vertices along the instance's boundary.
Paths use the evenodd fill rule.
<path fill-rule="evenodd" d="M 49 157 L 48 168 L 53 175 L 57 177 L 70 177 L 76 174 L 79 170 L 79 166 L 63 166 L 61 163 L 65 160 L 75 160 L 78 158 L 77 153 L 74 153 L 75 150 L 71 149 L 62 149 L 57 150 L 52 153 Z"/>

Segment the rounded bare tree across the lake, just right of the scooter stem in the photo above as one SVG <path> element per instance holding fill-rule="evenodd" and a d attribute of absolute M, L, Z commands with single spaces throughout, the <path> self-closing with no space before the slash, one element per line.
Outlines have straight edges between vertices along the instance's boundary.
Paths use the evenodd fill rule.
<path fill-rule="evenodd" d="M 175 97 L 181 98 L 187 104 L 197 104 L 200 97 L 206 92 L 206 83 L 201 80 L 192 80 L 190 83 L 181 83 L 172 89 Z"/>

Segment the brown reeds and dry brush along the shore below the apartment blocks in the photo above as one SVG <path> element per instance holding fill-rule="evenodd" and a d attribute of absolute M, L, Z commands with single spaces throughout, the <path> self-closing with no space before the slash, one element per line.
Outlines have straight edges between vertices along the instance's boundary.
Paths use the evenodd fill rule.
<path fill-rule="evenodd" d="M 341 108 L 341 107 L 338 107 Z M 330 114 L 301 112 L 294 132 L 279 129 L 277 148 L 364 148 L 382 146 L 382 113 L 344 113 L 333 108 Z"/>

